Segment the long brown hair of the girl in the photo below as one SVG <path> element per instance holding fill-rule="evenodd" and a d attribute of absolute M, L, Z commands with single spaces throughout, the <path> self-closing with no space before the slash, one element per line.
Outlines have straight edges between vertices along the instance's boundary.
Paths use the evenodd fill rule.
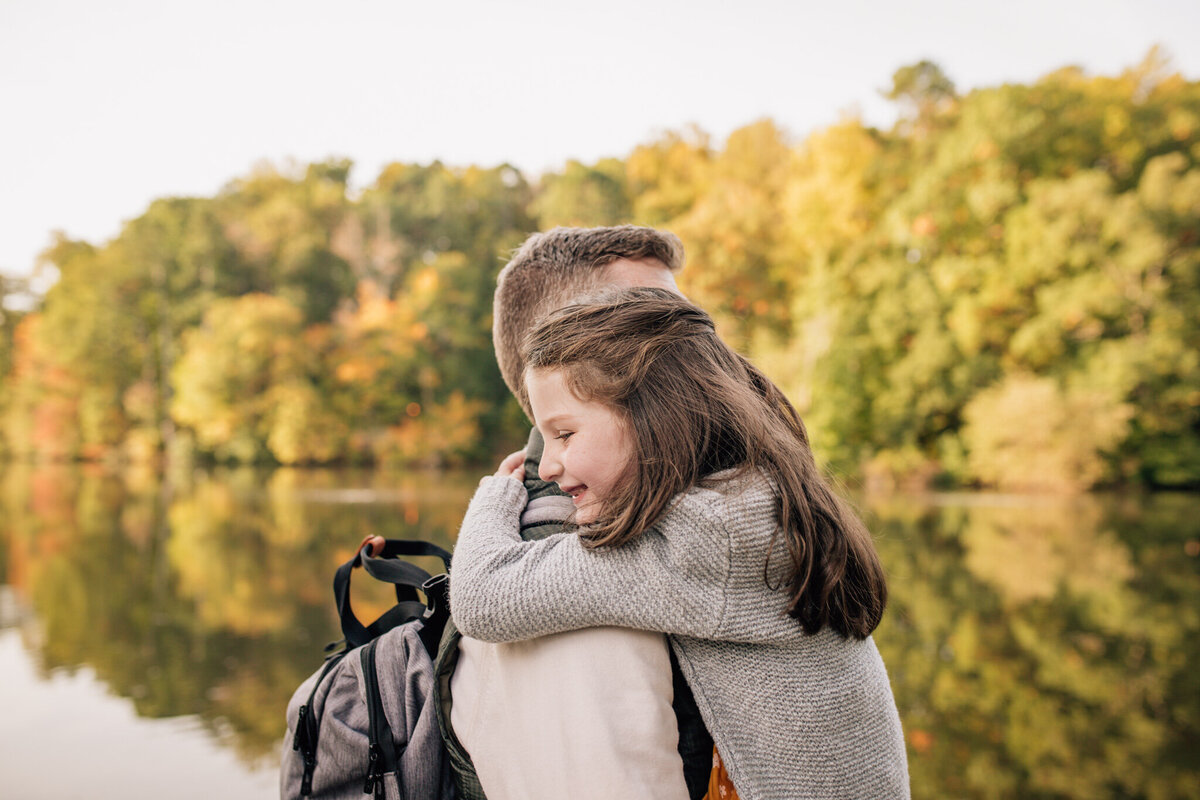
<path fill-rule="evenodd" d="M 590 546 L 629 542 L 715 473 L 757 470 L 775 487 L 772 551 L 781 534 L 791 557 L 788 614 L 809 633 L 875 630 L 887 584 L 870 534 L 817 470 L 796 409 L 702 309 L 664 289 L 608 291 L 542 319 L 523 355 L 528 369 L 560 369 L 580 399 L 614 409 L 632 434 L 629 480 L 583 531 Z"/>

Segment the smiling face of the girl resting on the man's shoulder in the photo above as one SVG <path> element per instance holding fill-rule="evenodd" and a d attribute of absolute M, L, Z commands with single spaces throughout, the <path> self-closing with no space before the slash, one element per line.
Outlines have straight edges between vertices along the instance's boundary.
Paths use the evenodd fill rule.
<path fill-rule="evenodd" d="M 599 504 L 632 462 L 629 431 L 607 405 L 575 397 L 559 369 L 527 371 L 526 389 L 534 422 L 546 440 L 538 476 L 571 495 L 575 522 L 595 522 Z"/>

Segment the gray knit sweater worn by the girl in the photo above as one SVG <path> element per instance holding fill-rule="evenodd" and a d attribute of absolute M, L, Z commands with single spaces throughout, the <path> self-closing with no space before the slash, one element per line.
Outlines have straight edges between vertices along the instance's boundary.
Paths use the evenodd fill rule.
<path fill-rule="evenodd" d="M 598 551 L 574 534 L 522 541 L 524 501 L 516 480 L 487 477 L 467 510 L 450 579 L 464 634 L 662 631 L 743 800 L 908 796 L 900 716 L 875 643 L 805 634 L 763 579 L 776 527 L 764 480 L 692 488 L 635 541 Z M 779 560 L 773 585 L 786 570 Z"/>

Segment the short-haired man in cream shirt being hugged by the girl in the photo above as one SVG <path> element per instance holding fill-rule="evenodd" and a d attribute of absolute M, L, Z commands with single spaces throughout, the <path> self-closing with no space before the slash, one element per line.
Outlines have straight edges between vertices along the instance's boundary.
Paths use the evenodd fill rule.
<path fill-rule="evenodd" d="M 606 287 L 678 291 L 682 266 L 679 240 L 652 228 L 530 236 L 496 289 L 493 341 L 509 389 L 523 397 L 521 342 L 542 314 Z M 526 539 L 563 530 L 572 509 L 554 485 L 538 480 L 541 446 L 533 431 Z M 488 800 L 704 796 L 713 744 L 665 636 L 592 628 L 490 644 L 461 638 L 451 625 L 442 645 L 439 715 L 468 800 L 485 792 Z"/>

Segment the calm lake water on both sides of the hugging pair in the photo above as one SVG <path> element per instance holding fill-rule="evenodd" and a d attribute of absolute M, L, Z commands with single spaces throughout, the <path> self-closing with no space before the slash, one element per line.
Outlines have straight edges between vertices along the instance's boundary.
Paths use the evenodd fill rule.
<path fill-rule="evenodd" d="M 8 468 L 0 795 L 276 796 L 332 570 L 368 534 L 449 547 L 476 480 Z M 1200 497 L 859 503 L 914 798 L 1200 796 Z"/>

